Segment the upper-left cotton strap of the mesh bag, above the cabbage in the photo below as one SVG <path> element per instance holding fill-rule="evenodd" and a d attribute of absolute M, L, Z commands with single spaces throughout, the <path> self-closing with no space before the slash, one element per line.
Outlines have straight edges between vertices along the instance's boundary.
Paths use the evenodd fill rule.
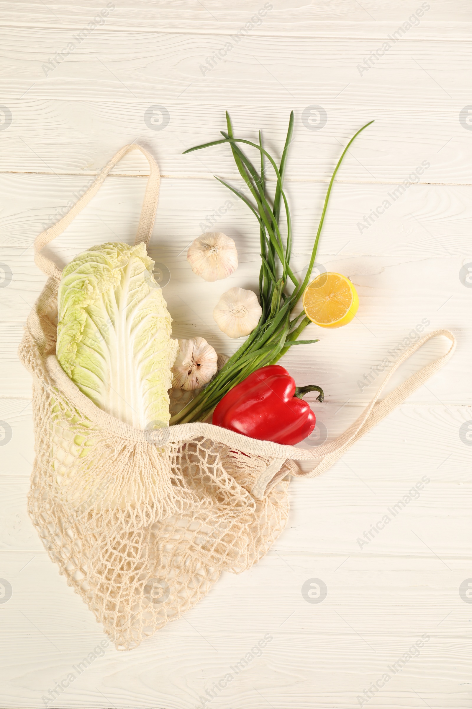
<path fill-rule="evenodd" d="M 42 249 L 49 244 L 53 239 L 55 239 L 59 234 L 62 234 L 64 229 L 66 229 L 69 224 L 76 218 L 76 216 L 84 209 L 84 207 L 91 201 L 92 197 L 95 196 L 102 186 L 105 177 L 107 177 L 110 169 L 115 167 L 117 162 L 120 162 L 124 155 L 132 150 L 140 150 L 144 157 L 146 157 L 147 162 L 149 162 L 149 178 L 146 185 L 146 192 L 144 194 L 144 200 L 142 204 L 141 216 L 139 217 L 139 225 L 134 239 L 135 244 L 140 244 L 144 242 L 146 246 L 149 244 L 149 239 L 151 238 L 152 228 L 154 226 L 154 218 L 156 217 L 156 207 L 157 201 L 159 199 L 159 167 L 157 166 L 154 157 L 147 152 L 141 145 L 137 143 L 132 143 L 131 145 L 125 145 L 121 150 L 118 150 L 116 155 L 112 157 L 110 162 L 100 170 L 98 177 L 88 190 L 76 201 L 70 211 L 59 219 L 49 229 L 46 229 L 39 236 L 35 238 L 35 264 L 42 270 L 43 273 L 48 276 L 52 276 L 58 280 L 61 279 L 61 271 L 56 267 L 56 265 L 48 259 L 44 254 L 42 254 Z"/>

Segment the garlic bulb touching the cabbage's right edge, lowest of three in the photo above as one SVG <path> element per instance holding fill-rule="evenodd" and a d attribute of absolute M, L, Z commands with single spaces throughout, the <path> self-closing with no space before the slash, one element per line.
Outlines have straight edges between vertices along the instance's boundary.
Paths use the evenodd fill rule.
<path fill-rule="evenodd" d="M 171 369 L 173 389 L 200 389 L 217 374 L 217 353 L 203 337 L 179 340 L 178 346 L 180 350 Z"/>

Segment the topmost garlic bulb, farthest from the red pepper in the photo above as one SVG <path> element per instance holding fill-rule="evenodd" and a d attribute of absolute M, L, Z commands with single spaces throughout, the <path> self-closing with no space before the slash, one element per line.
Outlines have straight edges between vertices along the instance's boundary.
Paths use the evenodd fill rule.
<path fill-rule="evenodd" d="M 202 234 L 190 244 L 187 260 L 192 271 L 205 281 L 227 278 L 238 267 L 234 241 L 219 231 Z"/>

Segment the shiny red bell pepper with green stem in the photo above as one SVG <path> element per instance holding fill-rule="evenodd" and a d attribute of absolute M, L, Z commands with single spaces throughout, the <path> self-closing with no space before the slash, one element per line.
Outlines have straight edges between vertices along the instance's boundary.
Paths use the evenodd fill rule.
<path fill-rule="evenodd" d="M 315 428 L 316 418 L 308 402 L 301 398 L 319 386 L 295 386 L 287 369 L 278 364 L 256 369 L 221 399 L 212 423 L 265 441 L 294 445 Z"/>

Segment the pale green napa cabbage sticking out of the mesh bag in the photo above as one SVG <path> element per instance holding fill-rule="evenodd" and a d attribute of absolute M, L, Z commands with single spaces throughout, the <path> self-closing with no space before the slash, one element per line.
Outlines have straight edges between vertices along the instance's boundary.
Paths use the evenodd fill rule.
<path fill-rule="evenodd" d="M 56 354 L 93 403 L 135 428 L 168 425 L 178 341 L 146 246 L 106 243 L 76 256 L 57 296 Z"/>

